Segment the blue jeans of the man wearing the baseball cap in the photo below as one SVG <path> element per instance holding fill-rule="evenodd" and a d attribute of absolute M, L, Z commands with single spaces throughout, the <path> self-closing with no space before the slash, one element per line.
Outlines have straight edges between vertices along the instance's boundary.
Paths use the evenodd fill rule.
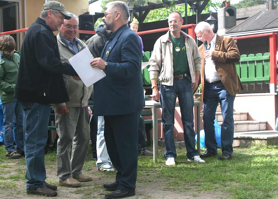
<path fill-rule="evenodd" d="M 27 189 L 44 185 L 44 147 L 48 137 L 50 105 L 36 102 L 21 102 L 24 110 L 25 159 Z"/>

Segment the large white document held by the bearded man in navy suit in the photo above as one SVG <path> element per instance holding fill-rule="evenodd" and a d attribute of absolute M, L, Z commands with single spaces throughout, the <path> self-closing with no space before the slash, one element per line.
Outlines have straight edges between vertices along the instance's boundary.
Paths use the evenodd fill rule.
<path fill-rule="evenodd" d="M 84 48 L 69 59 L 71 66 L 87 87 L 106 76 L 103 70 L 97 67 L 92 68 L 90 63 L 93 59 L 94 57 L 87 48 Z"/>

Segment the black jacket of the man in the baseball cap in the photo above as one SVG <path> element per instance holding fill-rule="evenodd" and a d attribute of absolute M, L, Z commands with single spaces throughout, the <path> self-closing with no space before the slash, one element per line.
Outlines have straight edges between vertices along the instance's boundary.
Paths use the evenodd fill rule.
<path fill-rule="evenodd" d="M 45 104 L 69 101 L 62 74 L 77 75 L 61 62 L 56 36 L 38 18 L 23 39 L 15 98 Z"/>

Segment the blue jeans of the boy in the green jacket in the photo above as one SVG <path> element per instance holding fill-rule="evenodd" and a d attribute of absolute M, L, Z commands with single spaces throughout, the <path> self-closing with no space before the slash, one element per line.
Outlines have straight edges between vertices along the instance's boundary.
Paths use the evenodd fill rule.
<path fill-rule="evenodd" d="M 2 109 L 3 138 L 5 149 L 7 152 L 12 152 L 15 150 L 23 152 L 23 109 L 18 100 L 4 103 Z M 14 142 L 16 144 L 16 148 Z"/>

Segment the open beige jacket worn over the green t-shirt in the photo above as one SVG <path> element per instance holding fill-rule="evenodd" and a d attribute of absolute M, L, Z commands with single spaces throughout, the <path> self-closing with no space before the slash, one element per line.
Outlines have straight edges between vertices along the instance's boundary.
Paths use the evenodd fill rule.
<path fill-rule="evenodd" d="M 195 71 L 201 69 L 201 56 L 195 40 L 183 31 L 188 66 L 192 82 L 195 82 Z M 154 44 L 154 51 L 150 57 L 150 79 L 159 79 L 161 84 L 173 86 L 173 44 L 169 38 L 170 30 L 162 35 Z"/>

